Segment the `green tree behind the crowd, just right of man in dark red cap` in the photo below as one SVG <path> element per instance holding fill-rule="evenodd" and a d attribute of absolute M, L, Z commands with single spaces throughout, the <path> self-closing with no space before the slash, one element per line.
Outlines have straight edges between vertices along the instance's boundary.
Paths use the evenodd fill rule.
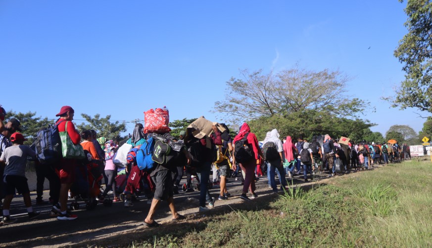
<path fill-rule="evenodd" d="M 94 129 L 98 137 L 105 137 L 106 139 L 123 138 L 120 133 L 126 131 L 126 124 L 120 122 L 111 122 L 111 116 L 107 115 L 105 118 L 100 118 L 99 114 L 91 117 L 87 114 L 81 114 L 86 119 L 87 123 L 82 123 L 77 126 L 80 132 L 84 130 Z"/>

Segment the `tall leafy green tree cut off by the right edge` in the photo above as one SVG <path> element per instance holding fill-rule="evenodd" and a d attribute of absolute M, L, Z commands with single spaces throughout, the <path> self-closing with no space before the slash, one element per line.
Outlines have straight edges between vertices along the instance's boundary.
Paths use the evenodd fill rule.
<path fill-rule="evenodd" d="M 387 99 L 393 107 L 432 113 L 432 1 L 407 0 L 405 13 L 408 34 L 399 41 L 394 56 L 403 64 L 406 76 L 395 97 Z"/>

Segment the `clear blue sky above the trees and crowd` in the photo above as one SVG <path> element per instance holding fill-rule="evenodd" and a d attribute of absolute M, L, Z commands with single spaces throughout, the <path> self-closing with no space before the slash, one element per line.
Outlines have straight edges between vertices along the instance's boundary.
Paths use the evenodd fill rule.
<path fill-rule="evenodd" d="M 348 94 L 377 109 L 364 116 L 378 124 L 373 131 L 384 134 L 393 124 L 419 131 L 425 119 L 418 111 L 391 109 L 380 99 L 404 78 L 393 57 L 407 32 L 404 6 L 397 0 L 1 0 L 0 104 L 48 118 L 70 105 L 76 119 L 99 113 L 126 121 L 166 105 L 171 120 L 219 121 L 210 110 L 239 69 L 280 71 L 299 62 L 352 76 Z"/>

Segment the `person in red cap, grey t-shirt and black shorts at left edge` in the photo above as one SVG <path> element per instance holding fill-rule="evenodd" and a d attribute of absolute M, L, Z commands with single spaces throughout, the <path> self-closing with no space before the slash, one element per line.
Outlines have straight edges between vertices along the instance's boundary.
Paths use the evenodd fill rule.
<path fill-rule="evenodd" d="M 3 204 L 3 218 L 1 219 L 2 224 L 15 222 L 16 219 L 10 216 L 9 207 L 12 202 L 13 196 L 15 195 L 15 189 L 18 190 L 18 194 L 22 194 L 24 204 L 27 207 L 27 212 L 30 219 L 35 219 L 40 214 L 39 212 L 33 211 L 32 201 L 30 199 L 30 190 L 26 178 L 26 164 L 27 156 L 36 159 L 35 152 L 30 147 L 23 145 L 26 139 L 19 132 L 14 132 L 10 136 L 12 146 L 9 146 L 4 150 L 0 156 L 0 165 L 4 167 L 4 204 Z"/>

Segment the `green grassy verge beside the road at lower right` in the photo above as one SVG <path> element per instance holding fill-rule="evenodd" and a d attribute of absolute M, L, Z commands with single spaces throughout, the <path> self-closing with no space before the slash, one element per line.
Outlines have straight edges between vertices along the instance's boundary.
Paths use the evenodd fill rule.
<path fill-rule="evenodd" d="M 432 247 L 432 164 L 385 166 L 307 191 L 291 186 L 267 207 L 234 208 L 133 247 Z"/>

